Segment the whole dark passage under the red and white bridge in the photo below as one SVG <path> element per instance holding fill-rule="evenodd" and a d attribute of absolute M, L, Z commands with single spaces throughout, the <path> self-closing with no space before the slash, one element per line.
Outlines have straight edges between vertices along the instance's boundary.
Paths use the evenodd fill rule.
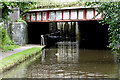
<path fill-rule="evenodd" d="M 66 25 L 67 24 L 67 25 Z M 74 25 L 73 25 L 74 24 Z M 28 23 L 28 44 L 40 44 L 41 35 L 54 34 L 61 36 L 59 40 L 49 40 L 50 45 L 59 41 L 71 41 L 71 36 L 75 38 L 73 41 L 79 42 L 79 47 L 84 49 L 107 49 L 108 45 L 108 25 L 99 24 L 98 21 L 79 21 L 79 22 L 29 22 Z M 63 29 L 63 30 L 62 30 Z M 72 34 L 71 30 L 73 30 Z M 64 32 L 64 33 L 63 33 Z M 76 39 L 79 33 L 79 39 Z M 61 35 L 62 34 L 62 35 Z"/>

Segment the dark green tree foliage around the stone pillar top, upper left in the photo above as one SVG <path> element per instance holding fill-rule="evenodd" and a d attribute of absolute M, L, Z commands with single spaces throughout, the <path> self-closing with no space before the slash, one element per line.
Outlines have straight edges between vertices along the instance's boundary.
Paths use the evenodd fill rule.
<path fill-rule="evenodd" d="M 13 12 L 12 8 L 20 9 L 20 17 L 30 9 L 35 8 L 35 2 L 2 2 L 2 19 L 9 20 L 9 13 Z"/>

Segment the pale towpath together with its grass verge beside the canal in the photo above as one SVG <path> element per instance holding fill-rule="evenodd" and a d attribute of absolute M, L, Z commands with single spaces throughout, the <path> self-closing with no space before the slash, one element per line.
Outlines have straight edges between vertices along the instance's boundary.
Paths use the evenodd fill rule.
<path fill-rule="evenodd" d="M 13 51 L 1 52 L 0 55 L 0 73 L 24 62 L 26 59 L 35 56 L 45 46 L 27 45 L 14 49 Z M 2 56 L 3 55 L 3 56 Z"/>

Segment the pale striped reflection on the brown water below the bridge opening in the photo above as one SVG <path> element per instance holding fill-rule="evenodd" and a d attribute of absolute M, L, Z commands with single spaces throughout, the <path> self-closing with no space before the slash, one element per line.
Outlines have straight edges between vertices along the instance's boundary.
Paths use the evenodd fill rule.
<path fill-rule="evenodd" d="M 77 42 L 58 42 L 57 45 L 58 62 L 78 63 L 79 45 Z"/>

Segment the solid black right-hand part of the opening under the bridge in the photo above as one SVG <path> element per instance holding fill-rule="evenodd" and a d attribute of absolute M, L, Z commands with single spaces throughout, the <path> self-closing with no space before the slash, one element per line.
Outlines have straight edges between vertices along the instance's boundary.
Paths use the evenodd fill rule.
<path fill-rule="evenodd" d="M 108 25 L 98 21 L 81 21 L 79 25 L 80 48 L 108 49 Z"/>

